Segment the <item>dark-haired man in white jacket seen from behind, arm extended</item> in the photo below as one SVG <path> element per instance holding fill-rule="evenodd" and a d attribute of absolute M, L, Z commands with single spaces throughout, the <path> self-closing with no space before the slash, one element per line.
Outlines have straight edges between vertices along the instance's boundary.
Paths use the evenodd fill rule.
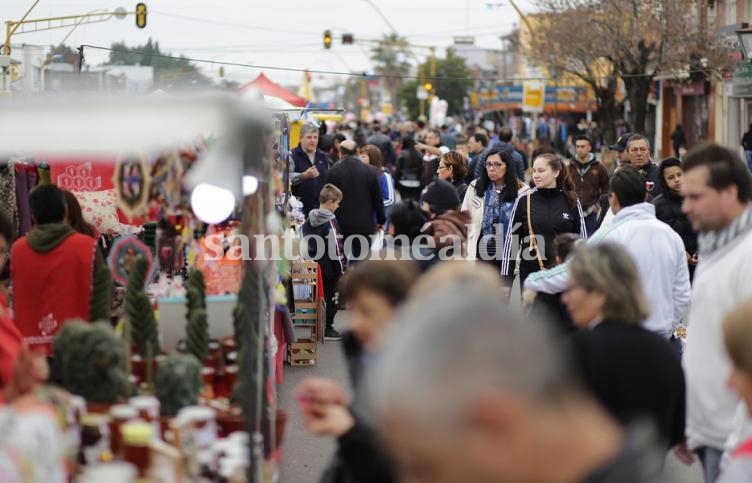
<path fill-rule="evenodd" d="M 595 232 L 588 243 L 616 242 L 627 249 L 650 303 L 650 316 L 643 325 L 669 340 L 689 305 L 689 270 L 681 238 L 655 217 L 655 207 L 645 202 L 646 197 L 645 180 L 635 169 L 625 167 L 614 174 L 609 195 L 614 221 Z M 568 284 L 565 263 L 530 275 L 524 288 L 553 294 L 564 292 Z"/>

